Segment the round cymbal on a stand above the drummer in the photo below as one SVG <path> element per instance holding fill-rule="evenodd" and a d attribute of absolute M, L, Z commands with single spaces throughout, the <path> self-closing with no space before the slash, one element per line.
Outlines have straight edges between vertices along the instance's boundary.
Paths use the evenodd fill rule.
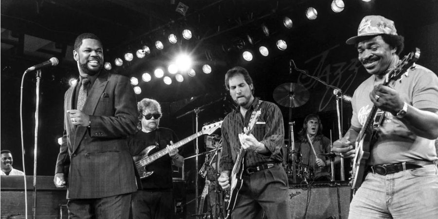
<path fill-rule="evenodd" d="M 273 93 L 274 100 L 283 107 L 299 107 L 309 100 L 309 91 L 298 83 L 278 85 Z"/>

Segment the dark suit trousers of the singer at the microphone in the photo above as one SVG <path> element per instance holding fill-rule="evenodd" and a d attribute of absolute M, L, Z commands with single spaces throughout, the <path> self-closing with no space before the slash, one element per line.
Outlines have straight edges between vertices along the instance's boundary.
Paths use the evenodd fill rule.
<path fill-rule="evenodd" d="M 67 201 L 69 219 L 128 219 L 131 193 Z"/>

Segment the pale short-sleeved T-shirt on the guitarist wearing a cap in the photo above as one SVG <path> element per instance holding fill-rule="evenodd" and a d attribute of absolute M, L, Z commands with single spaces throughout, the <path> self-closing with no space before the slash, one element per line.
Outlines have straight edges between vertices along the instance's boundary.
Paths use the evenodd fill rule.
<path fill-rule="evenodd" d="M 353 116 L 351 125 L 362 127 L 373 103 L 369 93 L 373 90 L 374 75 L 366 79 L 354 91 L 351 105 Z M 408 70 L 407 77 L 390 84 L 399 92 L 407 104 L 417 109 L 432 108 L 438 110 L 438 77 L 435 73 L 420 65 Z M 378 130 L 377 142 L 372 146 L 371 157 L 367 164 L 391 164 L 414 160 L 437 160 L 434 140 L 419 137 L 389 112 L 385 112 L 383 125 Z"/>

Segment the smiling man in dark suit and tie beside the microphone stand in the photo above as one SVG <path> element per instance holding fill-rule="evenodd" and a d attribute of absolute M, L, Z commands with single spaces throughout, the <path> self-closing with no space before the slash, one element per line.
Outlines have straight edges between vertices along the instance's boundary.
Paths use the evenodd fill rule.
<path fill-rule="evenodd" d="M 73 57 L 79 78 L 64 96 L 54 183 L 68 188 L 69 218 L 128 219 L 137 190 L 127 142 L 137 130 L 135 94 L 127 77 L 102 69 L 95 35 L 79 35 Z"/>

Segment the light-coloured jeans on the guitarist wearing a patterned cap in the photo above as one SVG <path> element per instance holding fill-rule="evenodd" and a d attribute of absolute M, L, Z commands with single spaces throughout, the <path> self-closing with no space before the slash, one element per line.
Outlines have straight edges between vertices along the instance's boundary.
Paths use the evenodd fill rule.
<path fill-rule="evenodd" d="M 350 203 L 348 218 L 437 219 L 437 165 L 385 176 L 368 173 Z"/>

